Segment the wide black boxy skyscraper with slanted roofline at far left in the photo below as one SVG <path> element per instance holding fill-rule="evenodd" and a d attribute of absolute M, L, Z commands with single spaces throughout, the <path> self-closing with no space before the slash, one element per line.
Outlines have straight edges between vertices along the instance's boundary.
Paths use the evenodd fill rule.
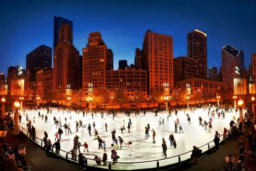
<path fill-rule="evenodd" d="M 39 69 L 52 68 L 52 48 L 41 45 L 27 54 L 26 70 L 36 72 Z"/>

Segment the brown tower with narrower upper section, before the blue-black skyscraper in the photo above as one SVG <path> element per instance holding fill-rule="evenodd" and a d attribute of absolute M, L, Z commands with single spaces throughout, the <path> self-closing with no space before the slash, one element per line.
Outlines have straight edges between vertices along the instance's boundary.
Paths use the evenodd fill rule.
<path fill-rule="evenodd" d="M 66 90 L 67 85 L 79 89 L 79 51 L 72 41 L 72 28 L 68 24 L 61 25 L 53 57 L 53 90 Z"/>

